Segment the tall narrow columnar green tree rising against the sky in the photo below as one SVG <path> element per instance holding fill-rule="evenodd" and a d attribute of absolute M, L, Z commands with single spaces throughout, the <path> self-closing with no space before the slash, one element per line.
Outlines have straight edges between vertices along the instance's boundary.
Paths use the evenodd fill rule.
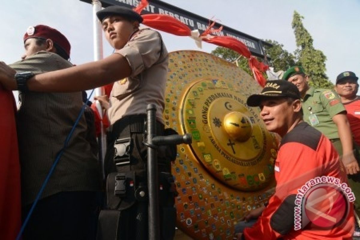
<path fill-rule="evenodd" d="M 304 19 L 304 17 L 294 11 L 291 25 L 296 39 L 297 49 L 295 55 L 297 64 L 301 65 L 305 69 L 307 75 L 309 75 L 310 85 L 324 88 L 332 87 L 333 84 L 328 80 L 328 76 L 325 74 L 326 56 L 322 51 L 314 48 L 314 40 L 303 26 L 302 19 Z"/>

